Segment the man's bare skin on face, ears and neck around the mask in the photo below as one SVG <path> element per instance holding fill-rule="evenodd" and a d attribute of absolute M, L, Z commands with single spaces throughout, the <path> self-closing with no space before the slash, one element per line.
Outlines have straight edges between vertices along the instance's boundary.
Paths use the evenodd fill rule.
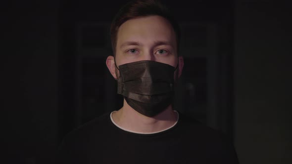
<path fill-rule="evenodd" d="M 182 56 L 178 57 L 176 35 L 171 24 L 161 16 L 146 16 L 131 19 L 123 23 L 117 34 L 116 57 L 108 56 L 106 66 L 111 75 L 118 79 L 117 66 L 141 61 L 152 60 L 178 65 L 175 79 L 181 76 L 184 66 Z M 115 63 L 116 62 L 116 63 Z M 119 126 L 139 133 L 153 133 L 171 127 L 176 123 L 178 116 L 169 105 L 163 112 L 146 117 L 124 100 L 123 107 L 112 114 L 113 121 Z"/>

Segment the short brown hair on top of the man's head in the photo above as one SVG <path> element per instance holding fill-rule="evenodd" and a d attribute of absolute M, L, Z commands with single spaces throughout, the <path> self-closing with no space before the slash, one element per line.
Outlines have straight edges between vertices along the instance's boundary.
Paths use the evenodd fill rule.
<path fill-rule="evenodd" d="M 119 27 L 126 21 L 138 17 L 158 15 L 164 17 L 172 25 L 176 34 L 177 48 L 180 42 L 180 28 L 169 9 L 159 0 L 132 0 L 125 4 L 114 17 L 110 27 L 110 38 L 113 54 L 116 54 L 117 33 Z"/>

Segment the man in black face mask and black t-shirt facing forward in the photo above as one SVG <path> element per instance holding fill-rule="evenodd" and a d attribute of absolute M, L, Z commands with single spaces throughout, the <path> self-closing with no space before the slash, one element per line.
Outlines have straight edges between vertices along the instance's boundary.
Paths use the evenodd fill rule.
<path fill-rule="evenodd" d="M 67 135 L 60 164 L 238 164 L 221 133 L 172 107 L 184 66 L 178 27 L 157 0 L 132 1 L 118 12 L 106 65 L 124 105 Z"/>

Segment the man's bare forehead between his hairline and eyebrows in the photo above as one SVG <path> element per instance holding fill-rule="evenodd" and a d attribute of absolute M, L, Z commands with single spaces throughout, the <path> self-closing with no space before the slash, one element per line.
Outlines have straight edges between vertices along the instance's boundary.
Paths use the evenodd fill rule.
<path fill-rule="evenodd" d="M 155 15 L 130 19 L 123 23 L 117 34 L 117 48 L 124 41 L 168 41 L 175 46 L 176 36 L 168 20 Z"/>

